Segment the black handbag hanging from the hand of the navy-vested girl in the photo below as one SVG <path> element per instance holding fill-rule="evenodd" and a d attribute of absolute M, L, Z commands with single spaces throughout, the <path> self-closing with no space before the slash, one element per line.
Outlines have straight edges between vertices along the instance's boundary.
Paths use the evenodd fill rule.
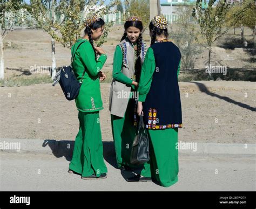
<path fill-rule="evenodd" d="M 131 149 L 131 164 L 143 164 L 148 162 L 149 156 L 149 136 L 144 127 L 143 116 L 140 115 Z"/>

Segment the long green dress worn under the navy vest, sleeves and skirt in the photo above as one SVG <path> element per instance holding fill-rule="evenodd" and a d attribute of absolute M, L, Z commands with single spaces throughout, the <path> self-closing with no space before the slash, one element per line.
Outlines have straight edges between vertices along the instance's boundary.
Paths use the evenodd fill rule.
<path fill-rule="evenodd" d="M 150 47 L 147 50 L 139 81 L 139 100 L 144 102 L 149 93 L 152 76 L 156 69 L 154 53 Z M 179 68 L 178 73 L 179 74 Z M 144 164 L 140 175 L 157 180 L 161 186 L 168 187 L 178 182 L 178 128 L 161 130 L 147 129 L 150 140 L 150 161 Z"/>

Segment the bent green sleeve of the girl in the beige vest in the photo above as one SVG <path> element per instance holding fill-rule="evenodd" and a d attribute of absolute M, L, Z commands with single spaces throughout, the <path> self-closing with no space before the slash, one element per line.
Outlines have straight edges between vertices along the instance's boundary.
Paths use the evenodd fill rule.
<path fill-rule="evenodd" d="M 113 60 L 113 79 L 125 83 L 126 85 L 132 84 L 132 79 L 128 78 L 122 73 L 122 63 L 123 63 L 123 52 L 119 45 L 114 51 L 114 60 Z"/>

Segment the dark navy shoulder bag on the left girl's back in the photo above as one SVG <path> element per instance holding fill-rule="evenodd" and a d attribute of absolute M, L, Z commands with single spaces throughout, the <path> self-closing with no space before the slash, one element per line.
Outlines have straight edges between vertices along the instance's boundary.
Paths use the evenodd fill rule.
<path fill-rule="evenodd" d="M 78 47 L 76 48 L 75 53 L 72 54 L 71 58 L 71 65 L 75 58 L 76 52 L 81 44 L 83 44 L 85 41 L 80 43 Z M 58 82 L 60 87 L 62 88 L 62 91 L 66 97 L 67 100 L 73 100 L 76 99 L 76 97 L 79 94 L 80 87 L 83 83 L 83 78 L 85 74 L 85 70 L 82 75 L 82 79 L 80 81 L 77 80 L 75 73 L 73 72 L 72 66 L 63 66 L 55 75 L 55 78 L 53 79 L 52 86 L 55 86 Z"/>

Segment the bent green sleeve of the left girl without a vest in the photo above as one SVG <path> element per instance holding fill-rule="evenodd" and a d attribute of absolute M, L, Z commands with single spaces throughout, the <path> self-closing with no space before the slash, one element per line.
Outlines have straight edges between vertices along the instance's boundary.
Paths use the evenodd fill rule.
<path fill-rule="evenodd" d="M 95 60 L 95 52 L 89 42 L 85 42 L 79 47 L 79 55 L 82 59 L 83 64 L 89 71 L 91 76 L 97 76 L 100 69 L 102 69 L 103 65 L 106 62 L 107 56 L 106 54 L 100 55 L 98 60 Z"/>

